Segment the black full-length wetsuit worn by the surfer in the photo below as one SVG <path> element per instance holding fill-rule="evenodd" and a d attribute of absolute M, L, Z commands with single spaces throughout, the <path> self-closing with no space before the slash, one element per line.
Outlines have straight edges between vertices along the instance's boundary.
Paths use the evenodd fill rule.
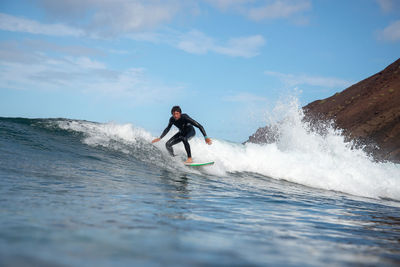
<path fill-rule="evenodd" d="M 162 132 L 160 139 L 163 138 L 169 132 L 172 125 L 178 127 L 179 132 L 176 133 L 174 136 L 172 136 L 165 144 L 168 152 L 171 154 L 171 156 L 174 156 L 174 150 L 172 149 L 172 146 L 176 145 L 179 142 L 183 142 L 183 144 L 185 145 L 187 156 L 188 158 L 191 158 L 192 154 L 190 151 L 189 139 L 196 134 L 193 126 L 199 128 L 204 137 L 207 136 L 206 131 L 204 130 L 203 126 L 201 126 L 200 123 L 190 118 L 189 115 L 183 113 L 181 114 L 181 118 L 179 120 L 175 120 L 174 117 L 171 117 L 169 119 L 168 126 Z"/>

